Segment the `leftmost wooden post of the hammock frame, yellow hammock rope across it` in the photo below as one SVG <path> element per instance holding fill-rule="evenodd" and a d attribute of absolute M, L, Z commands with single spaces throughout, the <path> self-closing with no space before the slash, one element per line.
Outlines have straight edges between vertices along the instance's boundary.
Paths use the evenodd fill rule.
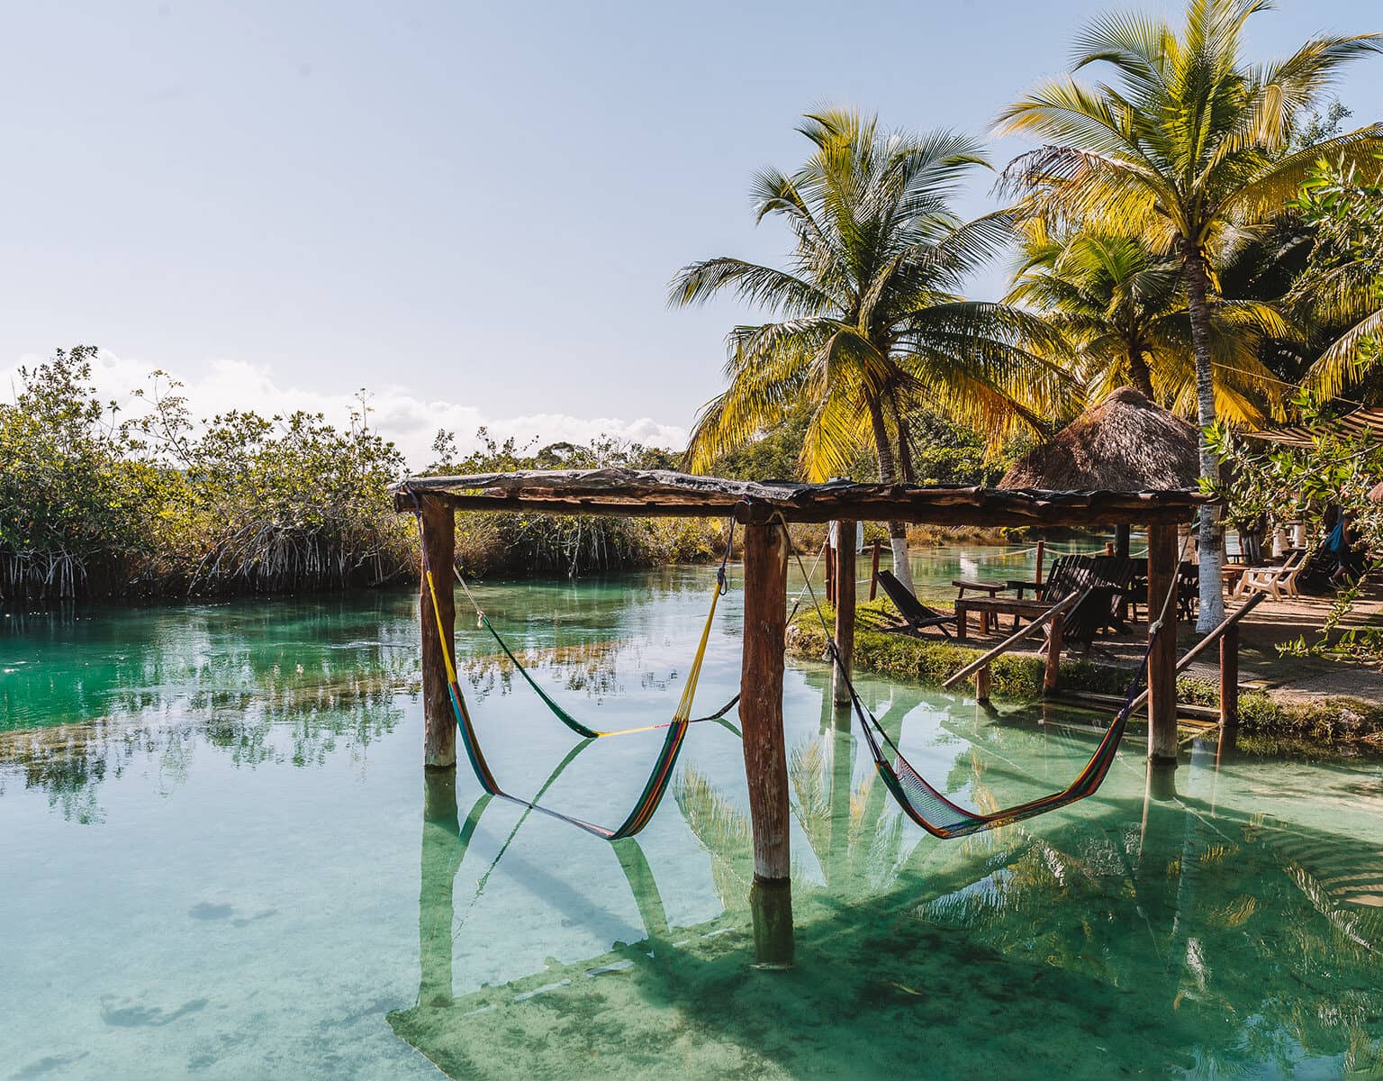
<path fill-rule="evenodd" d="M 456 558 L 456 516 L 451 507 L 423 498 L 423 544 L 427 565 L 437 587 L 437 608 L 441 610 L 441 630 L 447 649 L 456 656 L 456 606 L 452 598 L 451 569 Z M 437 637 L 437 613 L 433 612 L 427 576 L 419 574 L 418 619 L 422 628 L 423 655 L 423 764 L 437 768 L 456 765 L 456 717 L 451 711 L 451 692 L 447 689 L 447 662 Z"/>

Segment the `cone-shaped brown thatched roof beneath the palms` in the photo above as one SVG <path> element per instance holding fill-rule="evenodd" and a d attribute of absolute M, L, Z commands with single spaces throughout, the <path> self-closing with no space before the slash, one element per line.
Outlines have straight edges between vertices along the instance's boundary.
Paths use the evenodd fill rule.
<path fill-rule="evenodd" d="M 1195 489 L 1200 455 L 1195 426 L 1122 386 L 999 482 L 1001 489 L 1159 491 Z"/>

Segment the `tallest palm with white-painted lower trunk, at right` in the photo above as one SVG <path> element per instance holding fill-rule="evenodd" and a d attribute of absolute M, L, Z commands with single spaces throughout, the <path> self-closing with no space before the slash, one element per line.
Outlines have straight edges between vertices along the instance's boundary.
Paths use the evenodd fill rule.
<path fill-rule="evenodd" d="M 1318 36 L 1290 57 L 1247 64 L 1249 17 L 1270 0 L 1188 0 L 1174 29 L 1140 14 L 1111 14 L 1076 42 L 1072 71 L 1108 64 L 1115 86 L 1066 76 L 1000 116 L 1005 133 L 1048 141 L 1010 165 L 1005 179 L 1029 209 L 1084 227 L 1126 228 L 1176 255 L 1196 360 L 1200 472 L 1218 479 L 1206 436 L 1216 419 L 1210 310 L 1224 246 L 1279 212 L 1321 156 L 1355 161 L 1383 147 L 1383 125 L 1293 147 L 1299 118 L 1348 61 L 1380 51 L 1379 35 Z M 1224 613 L 1218 508 L 1200 512 L 1200 621 Z"/>

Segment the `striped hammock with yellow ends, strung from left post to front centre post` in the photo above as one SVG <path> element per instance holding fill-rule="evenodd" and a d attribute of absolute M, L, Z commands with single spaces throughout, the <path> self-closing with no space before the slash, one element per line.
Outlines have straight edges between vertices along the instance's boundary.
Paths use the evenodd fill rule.
<path fill-rule="evenodd" d="M 461 732 L 462 747 L 466 752 L 466 758 L 470 763 L 472 772 L 476 775 L 476 781 L 480 783 L 481 789 L 491 796 L 509 800 L 520 807 L 527 807 L 531 811 L 545 814 L 549 818 L 556 818 L 559 822 L 567 822 L 568 825 L 577 826 L 578 829 L 582 829 L 596 837 L 602 837 L 604 840 L 632 837 L 649 825 L 649 821 L 653 818 L 653 812 L 658 810 L 658 804 L 662 801 L 662 797 L 668 790 L 668 785 L 672 782 L 672 768 L 676 765 L 682 743 L 686 741 L 687 728 L 692 725 L 692 703 L 696 699 L 696 685 L 701 675 L 701 662 L 705 659 L 705 648 L 711 639 L 711 624 L 715 620 L 718 602 L 722 594 L 725 594 L 729 588 L 726 581 L 726 565 L 730 561 L 729 540 L 726 541 L 725 558 L 721 561 L 721 567 L 716 572 L 715 590 L 711 592 L 711 610 L 707 612 L 705 626 L 701 628 L 701 639 L 697 644 L 696 656 L 693 657 L 692 669 L 687 673 L 687 681 L 682 691 L 682 699 L 678 703 L 678 709 L 672 716 L 672 720 L 665 725 L 668 734 L 662 741 L 658 757 L 654 760 L 653 770 L 649 774 L 649 779 L 644 782 L 643 792 L 639 794 L 638 803 L 625 819 L 618 826 L 611 829 L 563 814 L 561 811 L 555 811 L 549 807 L 541 806 L 537 800 L 526 800 L 521 796 L 514 796 L 499 788 L 499 782 L 495 781 L 495 775 L 480 749 L 480 739 L 476 735 L 476 727 L 470 718 L 466 698 L 461 692 L 461 684 L 456 678 L 456 666 L 452 662 L 451 649 L 447 645 L 447 634 L 443 630 L 441 620 L 441 603 L 437 599 L 437 584 L 433 577 L 431 562 L 427 558 L 426 537 L 423 537 L 422 504 L 416 493 L 409 494 L 412 494 L 414 502 L 418 505 L 418 534 L 423 541 L 422 569 L 423 577 L 427 581 L 427 592 L 431 598 L 433 617 L 437 626 L 437 639 L 441 644 L 441 656 L 447 669 L 447 691 L 451 698 L 452 711 L 456 717 L 456 728 Z"/>

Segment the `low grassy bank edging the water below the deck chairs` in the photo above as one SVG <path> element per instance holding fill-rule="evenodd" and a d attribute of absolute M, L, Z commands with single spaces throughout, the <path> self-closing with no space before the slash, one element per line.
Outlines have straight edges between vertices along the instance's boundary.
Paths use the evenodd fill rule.
<path fill-rule="evenodd" d="M 834 613 L 826 609 L 827 620 Z M 924 687 L 940 687 L 952 673 L 981 656 L 983 651 L 936 638 L 917 638 L 887 631 L 896 615 L 887 601 L 860 603 L 855 623 L 855 666 L 892 680 Z M 826 635 L 815 612 L 801 612 L 788 627 L 788 655 L 819 660 Z M 1043 662 L 1023 653 L 1005 653 L 990 664 L 993 693 L 1017 700 L 1041 696 Z M 1098 664 L 1080 657 L 1064 657 L 1061 685 L 1066 691 L 1122 695 L 1131 670 Z M 1196 706 L 1220 705 L 1218 685 L 1189 675 L 1177 680 L 1180 702 Z M 1354 698 L 1324 698 L 1303 702 L 1271 691 L 1239 693 L 1239 727 L 1249 735 L 1312 741 L 1321 743 L 1362 742 L 1383 747 L 1383 703 Z"/>

